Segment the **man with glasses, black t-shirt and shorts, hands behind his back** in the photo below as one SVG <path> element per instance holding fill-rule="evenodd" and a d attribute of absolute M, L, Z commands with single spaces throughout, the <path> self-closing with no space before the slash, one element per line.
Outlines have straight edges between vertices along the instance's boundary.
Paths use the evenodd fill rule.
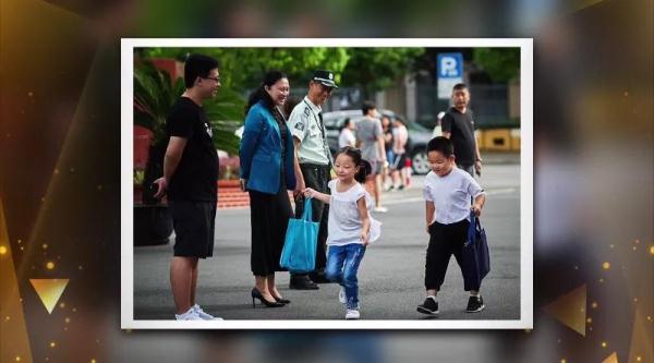
<path fill-rule="evenodd" d="M 178 320 L 219 319 L 195 303 L 198 258 L 214 252 L 218 193 L 218 154 L 211 126 L 202 108 L 220 87 L 218 62 L 206 56 L 189 56 L 184 64 L 185 92 L 166 121 L 170 137 L 164 159 L 164 177 L 157 179 L 155 197 L 168 193 L 175 233 L 170 285 Z"/>

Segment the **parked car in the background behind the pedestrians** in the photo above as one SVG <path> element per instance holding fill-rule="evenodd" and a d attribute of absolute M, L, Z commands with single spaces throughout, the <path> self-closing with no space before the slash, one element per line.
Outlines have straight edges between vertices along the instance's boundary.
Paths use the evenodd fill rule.
<path fill-rule="evenodd" d="M 380 110 L 384 116 L 388 116 L 393 120 L 397 116 L 390 110 Z M 346 120 L 352 119 L 355 123 L 362 120 L 364 116 L 361 110 L 343 110 L 323 113 L 323 122 L 325 123 L 325 136 L 329 144 L 329 149 L 332 154 L 338 150 L 338 135 L 340 128 Z M 405 121 L 407 130 L 409 131 L 409 141 L 407 142 L 407 150 L 411 157 L 411 167 L 413 173 L 426 174 L 429 172 L 429 164 L 427 162 L 427 143 L 432 140 L 432 131 L 427 128 L 413 122 Z"/>

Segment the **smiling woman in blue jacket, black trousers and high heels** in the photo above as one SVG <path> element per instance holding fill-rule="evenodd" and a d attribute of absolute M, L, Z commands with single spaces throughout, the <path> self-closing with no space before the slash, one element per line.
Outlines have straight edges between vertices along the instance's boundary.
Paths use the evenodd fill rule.
<path fill-rule="evenodd" d="M 280 112 L 289 90 L 286 74 L 266 73 L 247 101 L 241 138 L 241 189 L 250 193 L 253 307 L 254 299 L 267 307 L 290 302 L 281 298 L 275 285 L 275 271 L 281 270 L 279 257 L 287 226 L 293 215 L 288 191 L 295 187 L 293 140 Z"/>

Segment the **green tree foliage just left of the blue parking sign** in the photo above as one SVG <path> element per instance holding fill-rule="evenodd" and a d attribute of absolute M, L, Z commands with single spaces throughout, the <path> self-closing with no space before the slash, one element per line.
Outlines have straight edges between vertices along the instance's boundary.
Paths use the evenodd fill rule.
<path fill-rule="evenodd" d="M 410 72 L 415 58 L 424 51 L 424 48 L 350 48 L 343 85 L 359 86 L 370 98 Z"/>

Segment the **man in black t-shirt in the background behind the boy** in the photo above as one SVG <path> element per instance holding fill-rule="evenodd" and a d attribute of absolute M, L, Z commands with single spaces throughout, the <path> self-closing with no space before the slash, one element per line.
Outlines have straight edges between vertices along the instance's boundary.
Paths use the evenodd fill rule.
<path fill-rule="evenodd" d="M 482 155 L 474 138 L 474 120 L 470 104 L 470 92 L 462 83 L 452 88 L 453 107 L 443 117 L 443 136 L 452 141 L 457 167 L 474 177 L 482 176 Z"/>

